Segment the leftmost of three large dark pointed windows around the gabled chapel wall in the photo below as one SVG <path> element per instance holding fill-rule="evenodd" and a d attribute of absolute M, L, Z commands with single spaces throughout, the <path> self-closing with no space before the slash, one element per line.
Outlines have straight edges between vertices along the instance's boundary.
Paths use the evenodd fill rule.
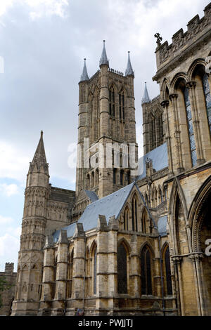
<path fill-rule="evenodd" d="M 127 252 L 123 244 L 117 248 L 117 292 L 127 294 Z"/>

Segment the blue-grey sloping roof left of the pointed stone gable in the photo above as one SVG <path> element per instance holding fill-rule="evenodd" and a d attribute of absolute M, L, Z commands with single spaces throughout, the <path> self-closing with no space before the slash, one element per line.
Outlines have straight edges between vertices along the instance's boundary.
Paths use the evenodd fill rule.
<path fill-rule="evenodd" d="M 115 218 L 117 218 L 134 185 L 134 182 L 130 183 L 130 185 L 113 192 L 113 194 L 109 194 L 108 196 L 89 204 L 77 222 L 83 223 L 84 231 L 86 232 L 87 230 L 91 230 L 97 226 L 99 214 L 106 216 L 107 223 L 110 216 L 115 216 Z M 71 225 L 61 229 L 67 230 L 68 237 L 72 237 L 75 232 L 75 226 L 76 223 L 72 223 Z M 60 230 L 56 230 L 56 232 L 54 232 L 53 242 L 58 241 L 59 232 Z"/>

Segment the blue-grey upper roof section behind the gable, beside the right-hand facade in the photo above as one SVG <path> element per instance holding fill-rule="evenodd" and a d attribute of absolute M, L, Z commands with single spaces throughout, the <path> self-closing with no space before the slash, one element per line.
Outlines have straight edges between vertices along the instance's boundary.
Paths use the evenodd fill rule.
<path fill-rule="evenodd" d="M 168 166 L 167 143 L 163 143 L 139 158 L 139 177 L 136 180 L 146 177 L 146 159 L 152 159 L 155 171 L 165 169 Z"/>

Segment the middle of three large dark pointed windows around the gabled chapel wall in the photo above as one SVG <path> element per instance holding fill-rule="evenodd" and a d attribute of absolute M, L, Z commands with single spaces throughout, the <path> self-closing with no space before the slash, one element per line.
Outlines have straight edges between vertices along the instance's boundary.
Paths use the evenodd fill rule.
<path fill-rule="evenodd" d="M 151 276 L 151 253 L 148 247 L 144 246 L 141 251 L 141 294 L 153 294 Z"/>

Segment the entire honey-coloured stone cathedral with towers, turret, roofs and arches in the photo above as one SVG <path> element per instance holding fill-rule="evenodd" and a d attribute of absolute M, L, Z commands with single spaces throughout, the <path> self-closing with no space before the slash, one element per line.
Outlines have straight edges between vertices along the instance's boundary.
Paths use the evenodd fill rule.
<path fill-rule="evenodd" d="M 84 62 L 76 191 L 49 184 L 41 132 L 11 315 L 211 315 L 211 4 L 204 12 L 170 45 L 157 34 L 160 95 L 145 88 L 141 159 L 129 54 L 125 74 L 105 44 L 93 77 Z"/>

